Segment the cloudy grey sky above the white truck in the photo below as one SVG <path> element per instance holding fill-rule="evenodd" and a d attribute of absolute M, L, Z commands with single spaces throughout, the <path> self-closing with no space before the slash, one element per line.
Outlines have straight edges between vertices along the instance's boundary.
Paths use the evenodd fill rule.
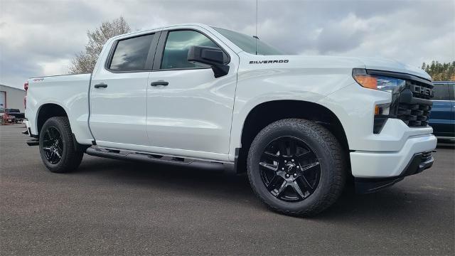
<path fill-rule="evenodd" d="M 455 60 L 455 0 L 259 0 L 257 34 L 290 54 Z M 138 31 L 205 23 L 255 34 L 256 1 L 0 0 L 0 84 L 68 73 L 87 30 L 123 16 Z"/>

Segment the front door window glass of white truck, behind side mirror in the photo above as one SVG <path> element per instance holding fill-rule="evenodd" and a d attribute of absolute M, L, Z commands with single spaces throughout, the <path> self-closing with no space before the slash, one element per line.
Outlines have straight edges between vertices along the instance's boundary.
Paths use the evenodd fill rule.
<path fill-rule="evenodd" d="M 161 68 L 199 68 L 206 67 L 200 63 L 191 63 L 187 60 L 191 46 L 209 46 L 219 48 L 207 36 L 197 31 L 171 31 L 168 34 L 164 47 Z"/>

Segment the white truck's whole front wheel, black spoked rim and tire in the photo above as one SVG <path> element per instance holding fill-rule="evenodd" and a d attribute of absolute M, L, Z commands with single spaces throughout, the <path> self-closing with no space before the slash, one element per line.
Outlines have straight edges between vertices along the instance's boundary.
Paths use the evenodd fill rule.
<path fill-rule="evenodd" d="M 269 208 L 311 216 L 341 195 L 346 159 L 326 128 L 305 119 L 282 119 L 257 134 L 247 171 L 253 190 Z"/>

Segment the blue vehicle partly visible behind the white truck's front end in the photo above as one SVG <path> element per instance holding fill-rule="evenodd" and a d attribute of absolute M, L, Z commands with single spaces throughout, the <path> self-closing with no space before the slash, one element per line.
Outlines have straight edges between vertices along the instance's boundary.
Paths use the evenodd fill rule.
<path fill-rule="evenodd" d="M 446 137 L 453 133 L 451 97 L 448 84 L 434 83 L 433 106 L 429 125 L 437 137 Z"/>

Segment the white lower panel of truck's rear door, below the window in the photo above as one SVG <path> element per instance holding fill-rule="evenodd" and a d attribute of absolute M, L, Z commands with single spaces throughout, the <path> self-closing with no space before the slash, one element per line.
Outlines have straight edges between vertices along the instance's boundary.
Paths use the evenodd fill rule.
<path fill-rule="evenodd" d="M 100 69 L 95 73 L 90 86 L 90 129 L 97 144 L 149 145 L 145 97 L 148 78 L 149 72 L 110 73 Z M 100 83 L 109 87 L 94 87 Z"/>

